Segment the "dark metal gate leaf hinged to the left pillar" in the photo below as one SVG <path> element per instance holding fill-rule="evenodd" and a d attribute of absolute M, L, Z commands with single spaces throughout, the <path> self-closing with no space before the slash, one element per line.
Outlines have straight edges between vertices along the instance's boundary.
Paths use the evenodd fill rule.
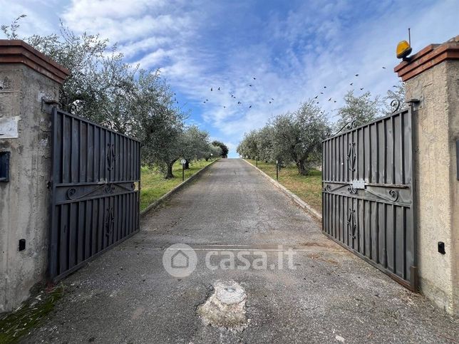
<path fill-rule="evenodd" d="M 48 273 L 56 281 L 139 229 L 140 143 L 57 108 Z"/>

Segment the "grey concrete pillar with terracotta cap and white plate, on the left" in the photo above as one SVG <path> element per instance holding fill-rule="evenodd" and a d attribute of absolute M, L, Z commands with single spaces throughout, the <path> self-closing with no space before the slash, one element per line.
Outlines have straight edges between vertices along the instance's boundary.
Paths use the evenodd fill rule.
<path fill-rule="evenodd" d="M 0 313 L 46 277 L 51 115 L 42 99 L 58 100 L 67 75 L 23 41 L 0 40 L 0 157 L 9 153 L 9 181 L 0 179 Z"/>

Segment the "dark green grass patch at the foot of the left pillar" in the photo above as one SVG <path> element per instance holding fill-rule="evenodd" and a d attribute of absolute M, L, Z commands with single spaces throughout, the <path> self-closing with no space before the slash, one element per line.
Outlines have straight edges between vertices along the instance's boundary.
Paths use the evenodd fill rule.
<path fill-rule="evenodd" d="M 56 301 L 63 296 L 59 285 L 51 291 L 41 291 L 29 298 L 11 313 L 0 318 L 0 343 L 18 343 L 21 337 L 36 328 L 48 313 L 53 311 Z"/>

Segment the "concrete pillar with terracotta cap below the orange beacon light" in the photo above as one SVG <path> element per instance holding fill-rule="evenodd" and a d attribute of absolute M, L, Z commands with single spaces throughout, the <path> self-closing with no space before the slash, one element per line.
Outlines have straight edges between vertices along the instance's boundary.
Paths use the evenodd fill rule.
<path fill-rule="evenodd" d="M 413 113 L 414 204 L 421 291 L 459 314 L 459 36 L 394 69 Z M 439 243 L 444 243 L 441 252 Z"/>

